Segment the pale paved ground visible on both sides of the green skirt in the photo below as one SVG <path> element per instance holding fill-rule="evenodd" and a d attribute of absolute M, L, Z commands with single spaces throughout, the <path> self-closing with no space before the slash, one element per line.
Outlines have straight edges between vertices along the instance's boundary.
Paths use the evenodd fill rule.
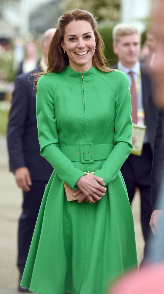
<path fill-rule="evenodd" d="M 0 136 L 0 294 L 18 294 L 17 225 L 21 213 L 21 190 L 8 170 L 6 140 Z M 133 216 L 137 243 L 138 262 L 143 257 L 143 237 L 139 221 L 139 194 L 133 202 Z"/>

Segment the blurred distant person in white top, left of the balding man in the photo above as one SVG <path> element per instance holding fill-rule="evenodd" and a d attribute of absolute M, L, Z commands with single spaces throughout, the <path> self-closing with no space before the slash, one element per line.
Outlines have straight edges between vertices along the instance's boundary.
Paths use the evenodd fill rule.
<path fill-rule="evenodd" d="M 18 74 L 28 73 L 39 65 L 38 61 L 38 44 L 34 41 L 25 44 L 24 60 L 20 64 Z"/>

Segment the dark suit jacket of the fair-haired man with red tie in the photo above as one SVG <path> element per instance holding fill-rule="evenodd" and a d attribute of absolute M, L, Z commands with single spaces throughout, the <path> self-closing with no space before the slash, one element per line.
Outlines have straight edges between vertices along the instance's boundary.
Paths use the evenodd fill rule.
<path fill-rule="evenodd" d="M 148 139 L 153 153 L 158 108 L 154 104 L 152 82 L 147 74 L 146 66 L 144 64 L 140 64 L 140 66 L 145 125 L 147 126 Z M 114 65 L 113 68 L 117 69 L 117 65 Z"/>

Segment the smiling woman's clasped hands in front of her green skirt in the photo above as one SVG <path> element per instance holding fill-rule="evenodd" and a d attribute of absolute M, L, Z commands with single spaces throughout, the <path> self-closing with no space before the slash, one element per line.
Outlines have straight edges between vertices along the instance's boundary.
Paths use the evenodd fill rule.
<path fill-rule="evenodd" d="M 102 186 L 101 186 L 102 185 Z M 104 180 L 94 175 L 84 175 L 76 183 L 78 190 L 73 193 L 73 196 L 77 196 L 79 193 L 83 193 L 78 199 L 78 203 L 84 201 L 85 198 L 91 203 L 101 200 L 106 193 L 106 187 Z"/>

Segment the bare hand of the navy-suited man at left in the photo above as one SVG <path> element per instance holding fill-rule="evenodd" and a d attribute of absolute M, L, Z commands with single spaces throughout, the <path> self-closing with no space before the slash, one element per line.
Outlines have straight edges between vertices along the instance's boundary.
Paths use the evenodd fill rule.
<path fill-rule="evenodd" d="M 18 187 L 25 192 L 29 192 L 30 186 L 32 185 L 29 169 L 26 167 L 20 167 L 15 170 L 14 174 Z"/>

